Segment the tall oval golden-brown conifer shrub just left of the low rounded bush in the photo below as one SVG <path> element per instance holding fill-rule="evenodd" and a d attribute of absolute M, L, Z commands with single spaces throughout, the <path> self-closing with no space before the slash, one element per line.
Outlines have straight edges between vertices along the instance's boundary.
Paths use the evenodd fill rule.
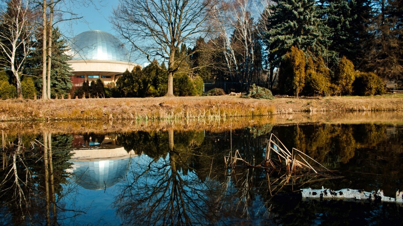
<path fill-rule="evenodd" d="M 350 95 L 353 92 L 355 74 L 353 62 L 343 56 L 334 71 L 334 84 L 337 85 L 336 94 Z"/>

